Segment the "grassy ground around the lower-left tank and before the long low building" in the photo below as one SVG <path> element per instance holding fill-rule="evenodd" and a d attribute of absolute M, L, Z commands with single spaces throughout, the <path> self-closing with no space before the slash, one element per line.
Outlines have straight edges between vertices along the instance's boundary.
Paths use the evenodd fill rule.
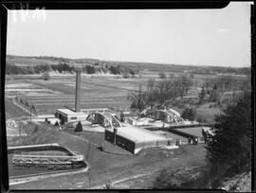
<path fill-rule="evenodd" d="M 36 132 L 34 132 L 34 125 L 29 124 L 26 127 L 26 131 L 28 134 L 27 138 L 24 138 L 26 144 L 59 143 L 68 149 L 82 152 L 85 159 L 89 152 L 88 162 L 91 166 L 90 186 L 105 184 L 108 181 L 116 181 L 121 178 L 148 173 L 149 171 L 153 172 L 152 179 L 154 179 L 155 172 L 162 167 L 177 169 L 186 166 L 189 168 L 204 165 L 205 162 L 206 151 L 204 145 L 184 146 L 181 149 L 145 149 L 137 155 L 131 155 L 129 153 L 121 154 L 122 149 L 117 149 L 107 142 L 105 142 L 106 151 L 101 151 L 99 146 L 103 142 L 102 133 L 64 132 L 45 124 L 41 125 Z M 92 143 L 90 150 L 88 140 Z M 11 186 L 11 189 L 69 189 L 88 187 L 88 175 L 80 173 L 72 176 L 43 179 L 26 184 L 15 184 Z M 136 188 L 136 186 L 131 188 Z"/>

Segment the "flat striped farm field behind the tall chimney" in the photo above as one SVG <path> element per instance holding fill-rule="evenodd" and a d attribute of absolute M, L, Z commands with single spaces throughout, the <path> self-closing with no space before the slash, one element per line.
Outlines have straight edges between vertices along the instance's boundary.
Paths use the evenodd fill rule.
<path fill-rule="evenodd" d="M 82 77 L 81 108 L 129 108 L 127 95 L 145 79 Z M 39 114 L 53 114 L 58 108 L 74 108 L 75 76 L 6 81 L 6 98 L 21 96 L 34 105 Z"/>

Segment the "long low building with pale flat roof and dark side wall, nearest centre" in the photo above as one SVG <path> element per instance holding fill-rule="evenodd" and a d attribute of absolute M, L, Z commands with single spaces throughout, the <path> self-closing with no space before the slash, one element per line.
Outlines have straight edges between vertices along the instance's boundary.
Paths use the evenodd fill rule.
<path fill-rule="evenodd" d="M 123 126 L 114 130 L 106 129 L 105 140 L 131 153 L 137 153 L 140 149 L 149 147 L 169 146 L 169 148 L 177 148 L 172 138 L 166 138 L 133 126 Z"/>

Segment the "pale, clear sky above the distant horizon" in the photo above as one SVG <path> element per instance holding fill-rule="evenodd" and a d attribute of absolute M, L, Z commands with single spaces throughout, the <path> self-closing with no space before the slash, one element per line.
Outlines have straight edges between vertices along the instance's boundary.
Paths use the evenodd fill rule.
<path fill-rule="evenodd" d="M 224 9 L 9 10 L 7 54 L 250 66 L 250 3 Z"/>

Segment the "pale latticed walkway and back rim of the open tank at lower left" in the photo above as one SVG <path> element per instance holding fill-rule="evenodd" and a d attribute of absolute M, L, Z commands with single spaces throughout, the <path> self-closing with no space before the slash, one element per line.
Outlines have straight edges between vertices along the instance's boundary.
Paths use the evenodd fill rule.
<path fill-rule="evenodd" d="M 70 169 L 84 166 L 83 155 L 58 144 L 10 147 L 13 168 Z"/>

